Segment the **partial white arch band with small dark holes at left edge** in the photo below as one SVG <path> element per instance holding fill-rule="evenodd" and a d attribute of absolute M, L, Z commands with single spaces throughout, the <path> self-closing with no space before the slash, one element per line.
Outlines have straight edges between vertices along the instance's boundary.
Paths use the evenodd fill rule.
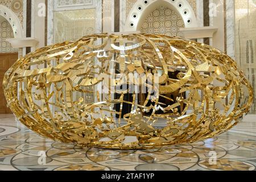
<path fill-rule="evenodd" d="M 23 28 L 19 18 L 8 7 L 0 5 L 0 16 L 5 18 L 13 28 L 14 38 L 23 38 Z"/>

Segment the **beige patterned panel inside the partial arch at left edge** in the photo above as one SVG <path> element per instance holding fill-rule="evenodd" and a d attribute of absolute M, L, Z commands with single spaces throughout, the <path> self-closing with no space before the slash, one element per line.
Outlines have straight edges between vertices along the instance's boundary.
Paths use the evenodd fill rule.
<path fill-rule="evenodd" d="M 12 48 L 6 39 L 14 38 L 13 29 L 7 20 L 0 24 L 0 53 L 18 52 L 18 49 Z"/>

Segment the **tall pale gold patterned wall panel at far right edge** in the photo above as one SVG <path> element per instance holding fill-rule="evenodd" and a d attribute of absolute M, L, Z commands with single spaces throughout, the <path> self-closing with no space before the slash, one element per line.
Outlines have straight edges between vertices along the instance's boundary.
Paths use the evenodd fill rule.
<path fill-rule="evenodd" d="M 236 0 L 236 61 L 246 73 L 256 98 L 256 0 Z M 256 100 L 251 113 L 256 113 Z"/>

